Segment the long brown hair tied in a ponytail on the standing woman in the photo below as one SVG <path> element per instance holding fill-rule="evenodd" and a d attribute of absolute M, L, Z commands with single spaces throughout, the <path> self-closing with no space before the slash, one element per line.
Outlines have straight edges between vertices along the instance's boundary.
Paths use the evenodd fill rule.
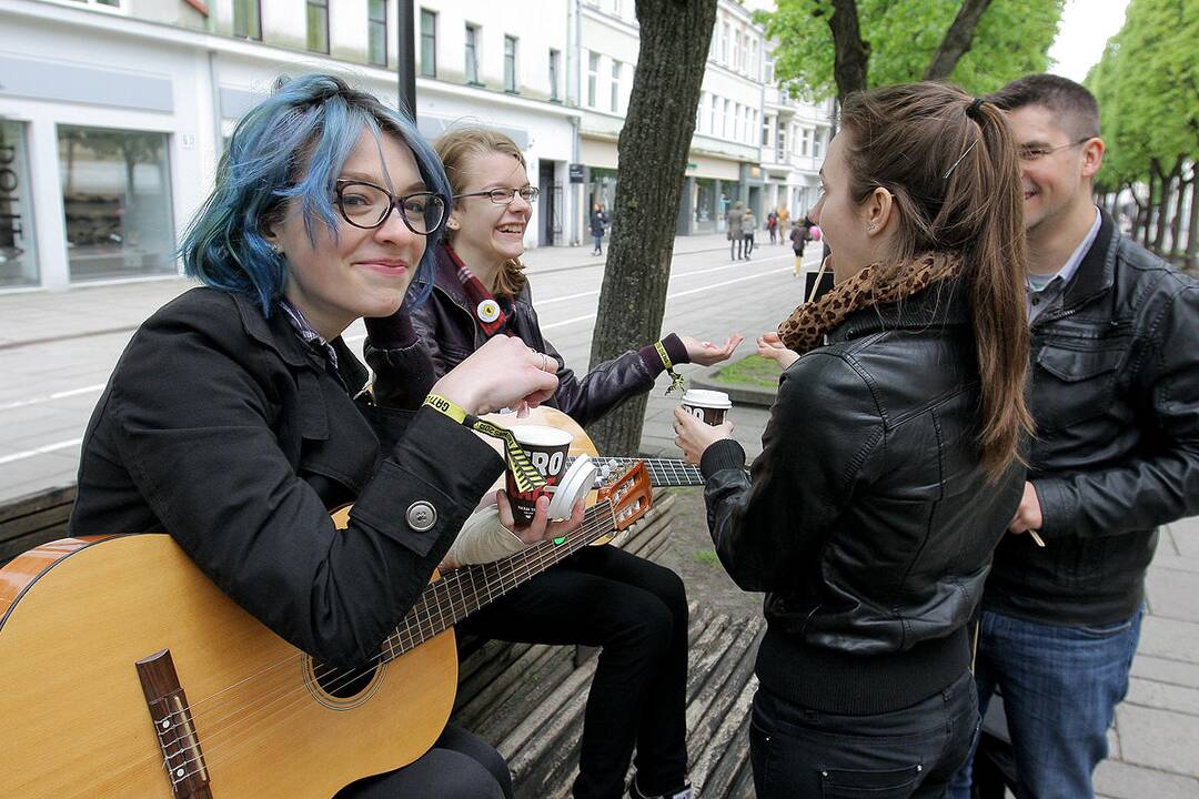
<path fill-rule="evenodd" d="M 995 105 L 940 83 L 852 95 L 842 123 L 854 199 L 863 202 L 879 186 L 894 195 L 897 270 L 920 253 L 962 256 L 982 392 L 977 440 L 998 479 L 1032 430 L 1024 399 L 1023 188 L 1012 134 Z"/>

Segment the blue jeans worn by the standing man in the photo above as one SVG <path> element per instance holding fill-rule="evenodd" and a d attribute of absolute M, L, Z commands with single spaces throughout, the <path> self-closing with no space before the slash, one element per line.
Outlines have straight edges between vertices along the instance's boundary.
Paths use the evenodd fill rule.
<path fill-rule="evenodd" d="M 983 612 L 975 666 L 978 707 L 987 712 L 998 685 L 1016 770 L 1029 795 L 1095 795 L 1091 775 L 1108 756 L 1107 733 L 1128 691 L 1143 613 L 1102 627 L 1060 627 Z M 953 799 L 969 799 L 970 776 L 968 763 L 953 780 Z"/>

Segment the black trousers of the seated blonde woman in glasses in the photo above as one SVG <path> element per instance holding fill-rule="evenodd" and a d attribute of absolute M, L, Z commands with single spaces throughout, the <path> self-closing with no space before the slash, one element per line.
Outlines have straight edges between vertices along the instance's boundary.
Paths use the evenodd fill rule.
<path fill-rule="evenodd" d="M 471 616 L 504 641 L 603 647 L 583 721 L 577 799 L 616 799 L 637 746 L 646 793 L 687 774 L 687 594 L 670 569 L 588 546 Z"/>

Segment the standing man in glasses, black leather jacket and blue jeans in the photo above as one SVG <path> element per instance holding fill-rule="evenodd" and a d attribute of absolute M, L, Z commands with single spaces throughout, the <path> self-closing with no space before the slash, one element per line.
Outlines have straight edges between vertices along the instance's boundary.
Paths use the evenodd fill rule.
<path fill-rule="evenodd" d="M 1084 799 L 1128 688 L 1157 527 L 1199 513 L 1199 284 L 1095 207 L 1104 145 L 1086 89 L 1029 75 L 992 99 L 1020 147 L 1037 435 L 976 679 L 983 709 L 1002 691 L 1029 795 Z M 966 769 L 952 795 L 969 797 Z"/>

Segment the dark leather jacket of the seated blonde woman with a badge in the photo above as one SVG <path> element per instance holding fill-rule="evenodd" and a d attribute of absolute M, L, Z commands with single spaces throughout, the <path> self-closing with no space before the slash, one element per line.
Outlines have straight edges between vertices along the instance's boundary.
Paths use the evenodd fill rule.
<path fill-rule="evenodd" d="M 487 337 L 469 310 L 469 302 L 458 280 L 457 266 L 445 249 L 439 247 L 433 293 L 412 310 L 412 323 L 420 334 L 421 347 L 433 358 L 438 377 L 487 343 Z M 646 358 L 635 351 L 628 351 L 601 363 L 580 380 L 541 334 L 541 323 L 532 307 L 528 283 L 512 303 L 508 331 L 538 352 L 558 361 L 558 391 L 546 405 L 559 408 L 580 425 L 590 424 L 631 397 L 650 391 L 653 388 L 653 380 L 662 371 L 661 365 L 657 371 L 652 371 L 645 364 Z M 375 373 L 375 399 L 381 405 L 408 407 L 410 387 L 397 385 L 392 375 L 411 374 L 408 363 L 421 361 L 424 353 L 411 347 L 380 347 L 370 339 L 367 340 L 364 351 L 367 363 Z"/>

